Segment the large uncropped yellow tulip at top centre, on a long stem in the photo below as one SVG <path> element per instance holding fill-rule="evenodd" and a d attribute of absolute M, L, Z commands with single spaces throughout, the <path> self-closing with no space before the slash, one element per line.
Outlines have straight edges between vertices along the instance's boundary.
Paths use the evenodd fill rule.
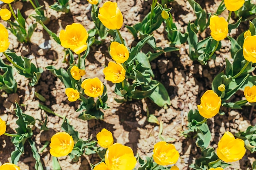
<path fill-rule="evenodd" d="M 123 15 L 117 7 L 117 2 L 107 1 L 99 8 L 99 20 L 108 29 L 120 29 L 123 25 Z"/>

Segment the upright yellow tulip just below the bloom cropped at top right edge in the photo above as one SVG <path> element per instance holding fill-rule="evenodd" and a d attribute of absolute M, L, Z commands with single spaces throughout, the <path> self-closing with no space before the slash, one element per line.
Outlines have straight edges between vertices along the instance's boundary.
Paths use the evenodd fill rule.
<path fill-rule="evenodd" d="M 227 37 L 229 29 L 227 27 L 228 23 L 223 17 L 218 17 L 213 15 L 210 18 L 210 30 L 211 36 L 214 40 L 220 41 Z"/>

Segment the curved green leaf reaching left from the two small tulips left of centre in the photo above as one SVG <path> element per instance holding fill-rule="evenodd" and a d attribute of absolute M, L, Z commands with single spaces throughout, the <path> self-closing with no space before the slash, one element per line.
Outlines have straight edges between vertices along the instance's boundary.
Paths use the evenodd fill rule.
<path fill-rule="evenodd" d="M 45 68 L 61 79 L 66 88 L 72 88 L 72 79 L 63 68 L 56 69 L 54 66 L 47 66 Z"/>

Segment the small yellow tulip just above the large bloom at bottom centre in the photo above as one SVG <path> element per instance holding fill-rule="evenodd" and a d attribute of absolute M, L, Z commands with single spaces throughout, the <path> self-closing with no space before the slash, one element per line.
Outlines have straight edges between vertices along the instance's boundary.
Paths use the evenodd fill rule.
<path fill-rule="evenodd" d="M 108 148 L 112 146 L 114 143 L 114 138 L 112 133 L 105 128 L 103 128 L 101 132 L 97 133 L 96 138 L 99 146 L 103 148 Z"/>

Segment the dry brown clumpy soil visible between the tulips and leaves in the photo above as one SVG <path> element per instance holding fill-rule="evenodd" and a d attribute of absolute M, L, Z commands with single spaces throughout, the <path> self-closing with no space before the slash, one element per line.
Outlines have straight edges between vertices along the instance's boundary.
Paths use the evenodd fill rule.
<path fill-rule="evenodd" d="M 105 0 L 103 0 L 105 2 Z M 99 7 L 103 2 L 100 2 Z M 215 12 L 221 0 L 197 0 L 202 8 L 207 10 L 207 13 Z M 70 13 L 65 14 L 56 12 L 49 8 L 49 5 L 54 4 L 53 1 L 40 0 L 39 3 L 45 6 L 47 17 L 50 18 L 49 24 L 46 26 L 58 35 L 65 29 L 65 26 L 78 22 L 83 24 L 87 30 L 94 27 L 90 16 L 91 6 L 86 0 L 70 0 Z M 124 16 L 124 25 L 132 26 L 141 21 L 144 16 L 150 11 L 151 0 L 118 0 L 118 6 Z M 4 8 L 6 4 L 1 4 L 0 8 Z M 27 23 L 35 22 L 28 18 L 32 13 L 35 13 L 29 2 L 14 2 L 13 7 L 19 8 L 27 18 Z M 168 7 L 173 7 L 171 13 L 175 23 L 181 31 L 186 31 L 186 26 L 189 21 L 193 22 L 196 17 L 193 13 L 189 2 L 183 0 L 175 0 Z M 228 12 L 224 11 L 222 16 L 227 18 Z M 234 22 L 231 18 L 231 22 Z M 1 20 L 1 23 L 7 25 Z M 243 31 L 249 28 L 248 22 L 241 23 L 236 31 L 232 31 L 232 36 L 236 37 Z M 134 45 L 134 39 L 127 29 L 121 28 L 121 35 L 126 40 L 129 47 Z M 200 34 L 200 38 L 205 38 L 210 35 L 209 29 L 206 29 Z M 154 37 L 158 46 L 168 47 L 168 39 L 162 24 L 157 31 L 154 31 Z M 184 137 L 183 132 L 186 130 L 187 114 L 190 109 L 196 109 L 197 104 L 200 104 L 202 94 L 211 89 L 213 78 L 223 71 L 225 68 L 225 58 L 230 57 L 230 42 L 222 40 L 222 48 L 217 51 L 216 60 L 209 61 L 208 65 L 201 65 L 199 62 L 190 60 L 188 56 L 188 44 L 177 46 L 179 51 L 165 53 L 151 62 L 151 67 L 155 74 L 155 79 L 159 80 L 166 87 L 169 96 L 171 97 L 171 106 L 166 110 L 159 108 L 150 99 L 133 100 L 119 104 L 115 102 L 114 93 L 115 85 L 107 82 L 104 79 L 103 68 L 111 61 L 108 54 L 108 46 L 110 46 L 109 36 L 101 45 L 93 45 L 90 49 L 90 54 L 86 59 L 86 77 L 99 77 L 99 79 L 108 88 L 108 106 L 109 110 L 104 110 L 103 120 L 83 121 L 78 119 L 79 113 L 76 109 L 79 107 L 79 101 L 69 102 L 65 95 L 65 86 L 52 73 L 45 69 L 46 66 L 53 65 L 56 68 L 68 68 L 67 63 L 63 63 L 64 51 L 63 47 L 52 40 L 49 35 L 38 24 L 36 31 L 32 35 L 31 43 L 20 44 L 17 42 L 14 35 L 9 35 L 11 45 L 9 49 L 15 51 L 18 55 L 23 55 L 31 59 L 38 67 L 44 68 L 44 72 L 34 87 L 29 86 L 29 81 L 15 74 L 15 79 L 18 83 L 18 91 L 15 94 L 7 95 L 0 91 L 0 117 L 7 121 L 7 132 L 14 133 L 17 117 L 13 109 L 15 108 L 15 100 L 22 105 L 25 114 L 32 115 L 34 118 L 45 119 L 45 111 L 38 107 L 40 103 L 35 97 L 35 92 L 43 95 L 47 100 L 45 106 L 51 108 L 55 113 L 65 115 L 84 140 L 92 137 L 96 139 L 96 134 L 102 128 L 106 128 L 113 133 L 114 142 L 130 146 L 135 155 L 139 153 L 142 158 L 151 156 L 153 146 L 160 141 L 159 126 L 146 121 L 148 107 L 149 114 L 154 114 L 159 121 L 163 121 L 163 137 L 169 138 L 170 142 L 175 145 L 180 153 L 180 159 L 176 165 L 180 170 L 189 170 L 189 165 L 195 162 L 195 159 L 200 156 L 200 149 L 195 145 L 195 140 L 192 137 Z M 48 50 L 43 50 L 40 45 L 44 42 L 49 42 L 51 47 Z M 148 51 L 147 47 L 143 51 Z M 5 62 L 7 60 L 1 57 Z M 254 71 L 255 73 L 255 71 Z M 243 99 L 243 92 L 238 92 L 231 100 Z M 248 126 L 256 124 L 256 109 L 253 107 L 244 107 L 241 110 L 230 110 L 221 108 L 225 111 L 225 115 L 216 115 L 208 120 L 208 125 L 211 129 L 212 139 L 211 146 L 217 148 L 218 141 L 225 131 L 230 131 L 233 134 L 239 130 L 246 130 Z M 49 131 L 40 131 L 40 124 L 37 122 L 34 128 L 33 139 L 36 141 L 37 148 L 41 150 L 46 141 L 49 141 L 54 133 L 61 131 L 61 118 L 48 114 L 47 127 Z M 192 135 L 193 136 L 193 135 Z M 4 135 L 0 136 L 0 162 L 5 163 L 10 160 L 11 151 L 14 146 L 11 143 L 11 138 Z M 49 154 L 49 146 L 40 154 L 43 166 L 46 170 L 52 169 L 52 158 Z M 252 169 L 252 162 L 255 160 L 255 154 L 251 154 L 247 150 L 245 156 L 240 161 L 234 162 L 233 166 L 225 168 L 225 170 L 247 170 Z M 83 155 L 77 163 L 72 163 L 69 157 L 60 157 L 59 162 L 62 170 L 90 170 L 90 163 L 98 163 L 99 158 L 96 155 Z M 20 157 L 19 166 L 22 170 L 34 170 L 34 158 L 30 150 L 29 144 L 25 144 L 25 154 Z"/>

